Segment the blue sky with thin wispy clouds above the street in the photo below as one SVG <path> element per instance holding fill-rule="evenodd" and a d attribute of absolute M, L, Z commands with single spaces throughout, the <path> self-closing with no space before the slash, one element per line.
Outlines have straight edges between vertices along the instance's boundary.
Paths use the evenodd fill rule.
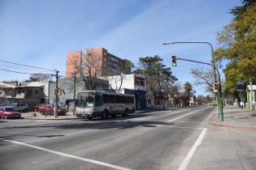
<path fill-rule="evenodd" d="M 229 21 L 240 0 L 0 0 L 1 60 L 58 69 L 65 75 L 67 52 L 103 47 L 137 64 L 138 57 L 171 55 L 210 62 L 208 45 L 162 45 L 171 41 L 209 41 Z M 180 83 L 193 83 L 190 69 L 172 68 Z M 47 72 L 0 62 L 1 69 Z M 28 75 L 0 70 L 0 81 Z M 204 94 L 204 87 L 194 87 Z"/>

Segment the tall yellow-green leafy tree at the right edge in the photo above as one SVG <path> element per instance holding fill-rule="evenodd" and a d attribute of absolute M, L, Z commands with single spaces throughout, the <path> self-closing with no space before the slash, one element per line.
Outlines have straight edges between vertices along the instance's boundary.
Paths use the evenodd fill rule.
<path fill-rule="evenodd" d="M 244 6 L 232 9 L 235 19 L 217 35 L 217 61 L 228 61 L 225 74 L 225 94 L 237 96 L 236 83 L 256 78 L 256 2 L 244 1 Z M 254 82 L 255 83 L 255 82 Z"/>

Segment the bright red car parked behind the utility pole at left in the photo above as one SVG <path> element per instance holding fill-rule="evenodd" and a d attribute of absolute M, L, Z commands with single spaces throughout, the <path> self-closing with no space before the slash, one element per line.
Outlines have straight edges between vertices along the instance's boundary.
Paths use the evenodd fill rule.
<path fill-rule="evenodd" d="M 38 108 L 38 112 L 43 114 L 54 115 L 54 105 L 53 104 L 43 104 Z M 63 116 L 67 113 L 67 109 L 58 105 L 58 115 Z"/>

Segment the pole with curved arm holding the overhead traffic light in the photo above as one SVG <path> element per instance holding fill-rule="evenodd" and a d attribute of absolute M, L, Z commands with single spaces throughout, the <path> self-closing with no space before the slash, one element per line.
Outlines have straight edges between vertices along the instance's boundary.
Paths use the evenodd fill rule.
<path fill-rule="evenodd" d="M 198 61 L 194 61 L 194 60 L 189 60 L 189 59 L 184 59 L 184 58 L 179 58 L 177 57 L 176 60 L 184 60 L 184 61 L 187 61 L 187 62 L 197 62 L 197 63 L 200 63 L 200 64 L 205 64 L 205 65 L 208 65 L 208 66 L 212 66 L 218 73 L 218 78 L 219 78 L 219 104 L 220 104 L 220 113 L 221 113 L 221 120 L 224 121 L 224 117 L 223 117 L 223 100 L 222 100 L 222 95 L 221 95 L 221 80 L 220 80 L 220 74 L 219 74 L 219 70 L 212 64 L 210 63 L 207 63 L 207 62 L 198 62 Z M 216 81 L 215 81 L 216 82 Z"/>

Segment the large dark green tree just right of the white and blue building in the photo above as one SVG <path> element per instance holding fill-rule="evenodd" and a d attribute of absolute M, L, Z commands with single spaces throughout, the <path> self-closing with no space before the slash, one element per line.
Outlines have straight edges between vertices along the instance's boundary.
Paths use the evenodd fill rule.
<path fill-rule="evenodd" d="M 140 57 L 139 68 L 134 71 L 137 74 L 144 74 L 149 91 L 152 91 L 154 100 L 160 100 L 167 96 L 173 83 L 177 80 L 172 75 L 171 68 L 163 65 L 163 59 L 158 55 L 154 57 Z M 156 102 L 155 108 L 156 108 Z"/>

